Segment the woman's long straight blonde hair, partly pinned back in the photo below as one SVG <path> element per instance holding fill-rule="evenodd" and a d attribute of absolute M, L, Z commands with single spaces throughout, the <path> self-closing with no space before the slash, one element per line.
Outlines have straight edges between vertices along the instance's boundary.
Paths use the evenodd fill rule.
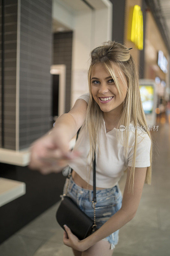
<path fill-rule="evenodd" d="M 151 165 L 147 167 L 145 183 L 151 184 L 152 176 L 152 138 L 151 134 L 145 127 L 147 127 L 146 118 L 144 115 L 144 110 L 142 107 L 142 101 L 139 91 L 139 76 L 137 65 L 134 62 L 129 49 L 126 48 L 123 44 L 117 43 L 115 41 L 104 42 L 101 46 L 96 47 L 91 51 L 91 64 L 88 69 L 88 84 L 89 84 L 89 103 L 87 106 L 86 118 L 85 118 L 85 127 L 86 132 L 89 134 L 90 141 L 90 167 L 89 167 L 89 177 L 90 172 L 92 171 L 92 162 L 94 159 L 94 150 L 98 146 L 100 151 L 100 142 L 98 141 L 98 134 L 101 128 L 103 111 L 101 111 L 99 105 L 93 99 L 91 91 L 91 74 L 92 68 L 95 64 L 100 63 L 103 65 L 105 70 L 112 76 L 115 81 L 118 93 L 122 96 L 122 89 L 119 81 L 116 78 L 114 68 L 112 63 L 118 67 L 118 74 L 122 77 L 121 71 L 124 73 L 127 79 L 127 94 L 123 101 L 123 106 L 121 109 L 121 116 L 117 127 L 120 127 L 120 124 L 123 124 L 125 127 L 128 127 L 130 123 L 136 127 L 137 125 L 142 126 L 142 130 L 149 135 L 151 139 L 151 151 L 150 151 L 150 163 Z M 119 130 L 116 130 L 119 131 Z M 122 132 L 121 132 L 122 133 Z M 133 193 L 134 186 L 134 173 L 135 173 L 135 159 L 136 159 L 136 150 L 137 150 L 137 129 L 135 129 L 135 145 L 134 145 L 134 154 L 132 160 L 132 166 L 130 169 L 130 178 L 128 190 Z M 117 136 L 117 132 L 116 132 Z M 121 136 L 122 137 L 122 136 Z M 127 157 L 128 147 L 129 147 L 129 131 L 125 129 L 123 131 L 123 146 L 124 154 Z M 101 151 L 100 151 L 101 153 Z M 88 154 L 88 156 L 89 156 Z M 124 172 L 127 172 L 126 169 Z M 89 180 L 88 180 L 89 183 Z M 89 185 L 89 184 L 88 184 Z M 88 186 L 87 186 L 88 187 Z"/>

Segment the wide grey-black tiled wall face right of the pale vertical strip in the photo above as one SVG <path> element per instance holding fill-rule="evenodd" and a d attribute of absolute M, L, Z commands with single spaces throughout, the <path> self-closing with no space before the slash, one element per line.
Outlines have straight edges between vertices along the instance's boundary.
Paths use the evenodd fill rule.
<path fill-rule="evenodd" d="M 51 128 L 51 0 L 22 0 L 19 147 Z"/>

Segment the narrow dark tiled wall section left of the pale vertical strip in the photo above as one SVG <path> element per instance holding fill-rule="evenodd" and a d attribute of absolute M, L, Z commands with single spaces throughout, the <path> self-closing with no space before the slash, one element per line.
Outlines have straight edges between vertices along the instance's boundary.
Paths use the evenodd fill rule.
<path fill-rule="evenodd" d="M 16 45 L 17 45 L 17 0 L 4 1 L 4 148 L 15 149 L 15 118 L 16 118 Z M 2 15 L 2 1 L 1 11 Z M 1 16 L 2 17 L 2 16 Z M 2 39 L 2 18 L 0 17 Z M 1 40 L 0 39 L 0 40 Z M 2 41 L 1 41 L 2 45 Z M 0 58 L 2 51 L 0 51 Z M 2 59 L 1 59 L 2 64 Z M 0 80 L 0 86 L 2 80 Z M 1 90 L 1 88 L 0 88 Z M 0 96 L 0 111 L 1 111 Z M 2 117 L 0 115 L 0 147 Z"/>

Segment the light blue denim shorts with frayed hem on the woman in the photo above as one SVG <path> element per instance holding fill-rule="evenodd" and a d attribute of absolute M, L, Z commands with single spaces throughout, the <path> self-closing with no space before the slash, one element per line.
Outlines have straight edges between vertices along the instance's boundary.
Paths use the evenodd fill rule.
<path fill-rule="evenodd" d="M 72 176 L 66 179 L 63 193 L 65 193 L 66 185 L 68 182 L 67 196 L 69 196 L 78 207 L 94 220 L 94 210 L 92 207 L 93 190 L 81 188 L 78 186 Z M 119 185 L 112 188 L 96 189 L 96 224 L 100 228 L 112 215 L 122 207 L 122 192 Z M 119 229 L 103 238 L 102 240 L 108 241 L 110 249 L 114 249 L 119 241 Z"/>

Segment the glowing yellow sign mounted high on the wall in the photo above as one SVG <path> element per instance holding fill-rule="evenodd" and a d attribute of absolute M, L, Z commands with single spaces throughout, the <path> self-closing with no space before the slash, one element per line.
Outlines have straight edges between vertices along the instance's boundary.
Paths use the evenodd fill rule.
<path fill-rule="evenodd" d="M 143 14 L 137 4 L 130 8 L 127 38 L 143 50 Z"/>

